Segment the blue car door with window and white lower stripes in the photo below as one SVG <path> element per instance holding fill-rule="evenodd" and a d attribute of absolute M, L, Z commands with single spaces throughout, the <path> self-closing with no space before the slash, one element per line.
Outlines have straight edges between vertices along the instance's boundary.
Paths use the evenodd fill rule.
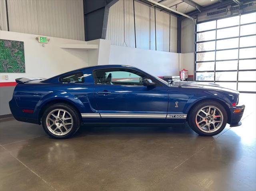
<path fill-rule="evenodd" d="M 144 86 L 148 76 L 133 69 L 94 71 L 94 96 L 103 122 L 164 122 L 168 109 L 167 88 Z"/>

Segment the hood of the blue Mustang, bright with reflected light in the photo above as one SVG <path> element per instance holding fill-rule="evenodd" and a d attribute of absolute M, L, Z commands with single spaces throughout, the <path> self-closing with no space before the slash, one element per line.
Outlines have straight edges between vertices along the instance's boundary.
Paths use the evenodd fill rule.
<path fill-rule="evenodd" d="M 221 91 L 228 91 L 232 93 L 238 93 L 236 90 L 228 89 L 221 87 L 216 83 L 205 83 L 205 82 L 189 82 L 189 81 L 180 81 L 174 82 L 173 87 L 186 87 L 186 88 L 198 88 L 198 89 L 212 89 L 212 90 L 221 90 Z"/>

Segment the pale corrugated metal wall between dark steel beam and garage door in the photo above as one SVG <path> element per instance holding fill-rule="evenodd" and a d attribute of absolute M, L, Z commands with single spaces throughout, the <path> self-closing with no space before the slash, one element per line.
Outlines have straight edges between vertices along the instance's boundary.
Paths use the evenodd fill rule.
<path fill-rule="evenodd" d="M 110 8 L 106 39 L 113 45 L 177 52 L 177 18 L 134 1 L 119 0 Z M 156 24 L 156 26 L 155 26 Z M 156 28 L 156 33 L 155 33 Z"/>

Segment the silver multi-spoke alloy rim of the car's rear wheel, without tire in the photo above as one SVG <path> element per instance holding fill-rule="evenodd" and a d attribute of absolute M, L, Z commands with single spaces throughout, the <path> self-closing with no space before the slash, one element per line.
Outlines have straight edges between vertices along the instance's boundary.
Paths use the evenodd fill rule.
<path fill-rule="evenodd" d="M 72 129 L 73 118 L 68 111 L 55 109 L 47 115 L 46 126 L 52 134 L 63 136 Z"/>

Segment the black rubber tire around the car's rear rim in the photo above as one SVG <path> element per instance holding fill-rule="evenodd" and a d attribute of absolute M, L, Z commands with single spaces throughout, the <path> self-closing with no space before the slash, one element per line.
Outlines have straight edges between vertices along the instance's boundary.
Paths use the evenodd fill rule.
<path fill-rule="evenodd" d="M 54 110 L 66 110 L 70 116 L 72 116 L 72 126 L 70 125 L 70 129 L 68 129 L 68 133 L 64 134 L 64 135 L 56 135 L 53 134 L 47 127 L 47 116 L 48 114 L 50 114 L 52 111 Z M 52 138 L 55 139 L 66 139 L 71 137 L 72 135 L 74 135 L 77 130 L 80 128 L 80 124 L 81 124 L 81 118 L 80 115 L 78 114 L 78 112 L 76 111 L 76 109 L 74 109 L 72 106 L 65 104 L 65 103 L 58 103 L 58 104 L 53 104 L 51 106 L 49 106 L 43 113 L 42 116 L 42 126 L 44 128 L 44 131 Z M 54 132 L 55 133 L 55 132 Z"/>

